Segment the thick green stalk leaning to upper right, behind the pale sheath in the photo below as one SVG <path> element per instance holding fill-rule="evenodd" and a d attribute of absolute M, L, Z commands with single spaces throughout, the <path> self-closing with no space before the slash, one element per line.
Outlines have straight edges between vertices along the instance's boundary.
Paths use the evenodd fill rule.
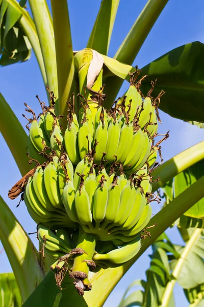
<path fill-rule="evenodd" d="M 114 58 L 125 64 L 132 64 L 140 51 L 151 28 L 156 23 L 168 0 L 149 0 L 123 40 Z M 123 80 L 114 76 L 106 80 L 106 106 L 109 108 L 116 99 Z"/>

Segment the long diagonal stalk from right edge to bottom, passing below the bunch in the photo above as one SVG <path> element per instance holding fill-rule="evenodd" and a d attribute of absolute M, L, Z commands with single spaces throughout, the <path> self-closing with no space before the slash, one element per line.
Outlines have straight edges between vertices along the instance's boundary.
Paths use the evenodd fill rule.
<path fill-rule="evenodd" d="M 204 197 L 204 176 L 193 183 L 184 192 L 178 195 L 169 205 L 162 208 L 154 217 L 151 218 L 149 224 L 157 224 L 151 229 L 151 239 L 144 240 L 138 254 L 131 260 L 127 261 L 123 266 L 118 268 L 101 269 L 91 278 L 93 285 L 92 293 L 85 294 L 86 302 L 90 307 L 97 305 L 97 300 L 104 303 L 115 288 L 122 276 L 131 268 L 135 261 L 146 251 L 146 249 L 155 242 L 155 240 L 177 220 L 184 212 L 191 208 L 195 203 Z M 103 284 L 103 287 L 101 287 Z"/>

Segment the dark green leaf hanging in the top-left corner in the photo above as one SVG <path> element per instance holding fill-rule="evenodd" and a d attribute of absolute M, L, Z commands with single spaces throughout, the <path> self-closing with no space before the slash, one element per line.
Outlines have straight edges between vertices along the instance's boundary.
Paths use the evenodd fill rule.
<path fill-rule="evenodd" d="M 0 3 L 0 65 L 5 66 L 23 62 L 31 56 L 31 45 L 28 37 L 21 28 L 22 12 L 10 5 L 9 1 Z"/>

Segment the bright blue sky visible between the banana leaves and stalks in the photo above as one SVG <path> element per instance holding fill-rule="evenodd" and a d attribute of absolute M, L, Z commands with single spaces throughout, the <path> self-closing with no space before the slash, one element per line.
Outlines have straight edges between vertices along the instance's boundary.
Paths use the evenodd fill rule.
<path fill-rule="evenodd" d="M 145 4 L 146 0 L 120 1 L 110 43 L 109 56 L 114 56 L 120 43 Z M 100 1 L 68 1 L 68 5 L 73 49 L 80 50 L 86 47 L 95 16 L 100 6 Z M 144 42 L 134 64 L 137 64 L 138 67 L 141 68 L 169 50 L 184 45 L 185 43 L 196 40 L 204 42 L 203 17 L 204 3 L 202 0 L 169 0 L 169 3 L 166 5 Z M 39 95 L 41 100 L 46 100 L 42 77 L 33 53 L 31 59 L 23 64 L 15 64 L 1 68 L 0 84 L 0 92 L 4 95 L 23 126 L 26 124 L 25 119 L 21 116 L 21 114 L 24 113 L 23 102 L 28 103 L 36 112 L 39 112 L 39 106 L 35 96 Z M 123 93 L 126 88 L 127 83 L 124 83 L 121 93 Z M 165 161 L 204 139 L 203 129 L 173 119 L 163 112 L 160 112 L 160 115 L 163 124 L 160 125 L 159 132 L 166 133 L 167 130 L 170 130 L 170 137 L 164 142 L 162 147 Z M 24 229 L 27 232 L 34 232 L 36 225 L 29 216 L 24 204 L 21 203 L 20 206 L 16 208 L 17 201 L 10 201 L 8 199 L 7 192 L 9 188 L 20 179 L 20 173 L 1 135 L 0 144 L 0 157 L 2 161 L 1 177 L 3 179 L 0 186 L 0 193 Z M 161 208 L 161 205 L 157 203 L 152 206 L 154 207 L 154 213 Z M 174 243 L 181 243 L 181 239 L 175 229 L 168 230 L 167 233 Z M 32 239 L 37 246 L 35 235 L 32 236 Z M 2 245 L 0 243 L 0 251 L 1 249 Z M 145 278 L 145 270 L 149 265 L 148 254 L 150 253 L 151 249 L 148 249 L 131 270 L 125 274 L 105 303 L 106 307 L 117 306 L 125 288 L 134 279 Z M 11 267 L 6 253 L 3 251 L 0 257 L 0 272 L 10 272 Z M 174 294 L 176 307 L 188 306 L 183 291 L 178 286 L 175 287 Z"/>

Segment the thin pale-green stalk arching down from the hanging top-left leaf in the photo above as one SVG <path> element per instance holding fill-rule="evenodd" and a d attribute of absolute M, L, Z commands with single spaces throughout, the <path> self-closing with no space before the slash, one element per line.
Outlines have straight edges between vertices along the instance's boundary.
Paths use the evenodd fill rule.
<path fill-rule="evenodd" d="M 36 32 L 36 27 L 33 22 L 33 19 L 31 18 L 30 14 L 23 8 L 19 6 L 19 4 L 16 2 L 16 0 L 7 0 L 7 2 L 13 6 L 16 10 L 19 10 L 22 14 L 22 17 L 19 20 L 19 23 L 25 32 L 25 34 L 28 36 L 29 41 L 31 43 L 31 46 L 33 48 L 33 51 L 35 53 L 36 59 L 38 61 L 38 65 L 42 74 L 42 78 L 44 81 L 45 86 L 47 85 L 47 77 L 45 73 L 44 68 L 44 62 L 42 57 L 42 52 L 40 49 L 40 43 L 38 39 L 38 35 Z"/>

